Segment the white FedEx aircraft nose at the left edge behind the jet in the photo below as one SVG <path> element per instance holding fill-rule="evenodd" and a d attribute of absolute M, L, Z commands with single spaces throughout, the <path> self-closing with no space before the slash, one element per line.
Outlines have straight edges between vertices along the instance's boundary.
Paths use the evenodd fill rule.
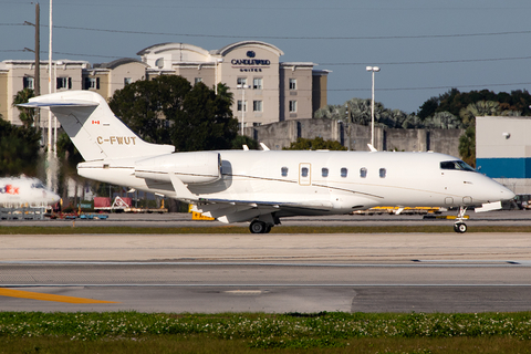
<path fill-rule="evenodd" d="M 60 200 L 37 178 L 0 178 L 0 208 L 46 207 Z"/>

